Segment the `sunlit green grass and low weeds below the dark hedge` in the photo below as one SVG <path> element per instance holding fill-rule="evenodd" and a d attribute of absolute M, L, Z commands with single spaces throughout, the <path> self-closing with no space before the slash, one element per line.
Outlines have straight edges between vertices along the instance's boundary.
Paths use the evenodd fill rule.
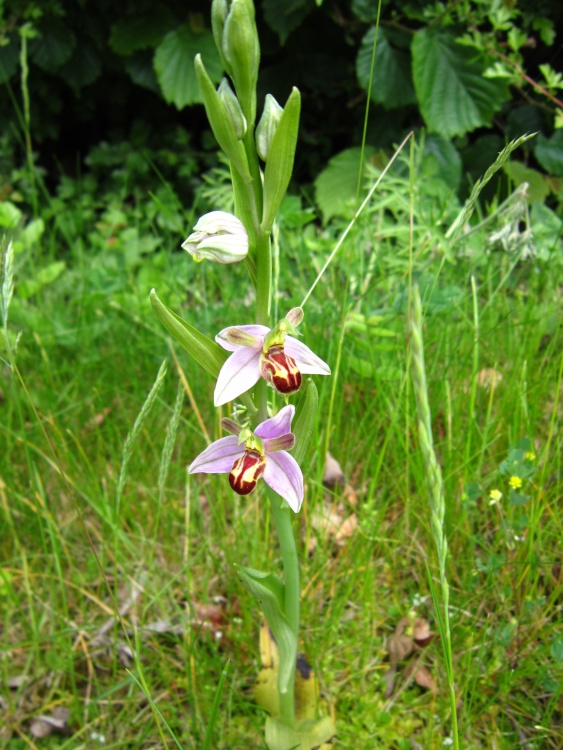
<path fill-rule="evenodd" d="M 396 232 L 385 231 L 389 201 L 403 189 L 398 177 L 375 195 L 305 308 L 307 343 L 334 363 L 342 340 L 342 357 L 332 403 L 333 383 L 317 378 L 318 427 L 295 520 L 302 647 L 342 747 L 448 746 L 439 640 L 405 657 L 387 690 L 388 648 L 401 618 L 410 613 L 411 622 L 416 616 L 437 630 L 426 570 L 438 581 L 439 567 L 408 357 L 413 276 L 422 290 L 444 483 L 461 746 L 557 748 L 557 251 L 551 264 L 515 262 L 500 251 L 448 256 L 422 195 L 409 259 L 400 232 L 408 226 L 401 216 L 412 209 L 398 198 Z M 282 313 L 303 299 L 338 231 L 337 223 L 323 230 L 282 223 Z M 108 232 L 115 234 L 93 230 L 79 252 L 66 253 L 64 273 L 28 297 L 19 288 L 41 266 L 42 246 L 16 255 L 8 328 L 12 344 L 23 332 L 17 367 L 29 397 L 3 365 L 0 747 L 201 748 L 222 685 L 210 746 L 263 748 L 263 716 L 251 693 L 259 618 L 233 563 L 279 568 L 268 506 L 259 493 L 233 496 L 224 477 L 186 475 L 205 432 L 219 437 L 220 415 L 211 406 L 213 384 L 182 352 L 171 356 L 148 305 L 156 286 L 208 334 L 249 322 L 244 270 L 195 266 L 163 248 L 140 251 L 137 240 L 119 234 L 112 249 Z M 54 257 L 48 232 L 44 242 L 47 263 Z M 343 331 L 345 274 L 353 314 L 344 316 Z M 148 411 L 143 404 L 164 359 L 168 373 Z M 196 408 L 178 396 L 180 381 Z M 502 467 L 526 437 L 535 457 L 521 462 L 533 471 L 523 479 L 521 502 Z M 323 487 L 326 444 L 347 486 Z M 490 504 L 494 489 L 503 497 Z M 341 522 L 354 520 L 351 536 L 330 533 L 322 521 L 327 509 Z M 436 690 L 416 684 L 421 666 Z M 70 712 L 66 732 L 38 739 L 33 719 L 61 707 Z"/>

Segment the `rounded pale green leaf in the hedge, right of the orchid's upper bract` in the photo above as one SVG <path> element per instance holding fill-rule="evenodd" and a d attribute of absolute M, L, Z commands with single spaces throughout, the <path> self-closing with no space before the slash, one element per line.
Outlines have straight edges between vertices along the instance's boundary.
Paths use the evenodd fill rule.
<path fill-rule="evenodd" d="M 364 152 L 364 168 L 374 153 L 373 148 Z M 349 148 L 333 156 L 315 180 L 315 200 L 326 223 L 333 216 L 348 216 L 356 199 L 360 148 Z"/>

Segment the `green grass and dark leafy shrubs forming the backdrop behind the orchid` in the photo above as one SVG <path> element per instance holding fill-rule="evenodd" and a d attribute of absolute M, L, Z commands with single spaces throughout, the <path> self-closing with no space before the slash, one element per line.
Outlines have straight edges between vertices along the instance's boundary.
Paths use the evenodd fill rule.
<path fill-rule="evenodd" d="M 190 84 L 194 50 L 211 47 L 208 4 L 153 7 L 0 5 L 0 227 L 15 251 L 2 277 L 3 748 L 172 747 L 163 721 L 200 748 L 227 659 L 214 746 L 262 747 L 254 605 L 232 563 L 272 566 L 268 513 L 220 478 L 186 476 L 219 436 L 213 384 L 148 305 L 156 287 L 209 335 L 249 322 L 243 269 L 178 251 L 195 216 L 230 207 Z M 417 281 L 461 736 L 557 748 L 561 9 L 383 2 L 370 88 L 376 11 L 258 4 L 264 93 L 283 100 L 296 83 L 304 95 L 274 236 L 281 313 L 353 215 L 358 174 L 362 195 L 415 131 L 305 307 L 307 342 L 334 377 L 318 382 L 298 519 L 303 648 L 343 747 L 448 746 L 406 335 Z M 531 131 L 456 232 L 475 180 Z"/>

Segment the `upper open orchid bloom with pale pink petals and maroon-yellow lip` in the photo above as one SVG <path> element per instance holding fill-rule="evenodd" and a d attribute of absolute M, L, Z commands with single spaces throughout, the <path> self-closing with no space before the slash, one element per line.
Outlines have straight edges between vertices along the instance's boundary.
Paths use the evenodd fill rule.
<path fill-rule="evenodd" d="M 256 385 L 263 377 L 279 393 L 289 395 L 301 387 L 301 375 L 330 375 L 330 367 L 294 336 L 303 320 L 295 307 L 277 326 L 224 328 L 215 336 L 223 349 L 233 352 L 217 378 L 215 406 L 226 404 Z"/>

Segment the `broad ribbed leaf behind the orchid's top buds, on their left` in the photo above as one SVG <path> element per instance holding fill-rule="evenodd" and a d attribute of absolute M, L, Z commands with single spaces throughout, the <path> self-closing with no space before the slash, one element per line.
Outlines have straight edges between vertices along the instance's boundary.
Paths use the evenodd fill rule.
<path fill-rule="evenodd" d="M 217 82 L 222 65 L 210 31 L 196 34 L 189 26 L 180 26 L 169 31 L 156 48 L 154 69 L 162 95 L 177 109 L 203 101 L 194 72 L 194 57 L 198 54 L 205 58 L 211 80 Z"/>

